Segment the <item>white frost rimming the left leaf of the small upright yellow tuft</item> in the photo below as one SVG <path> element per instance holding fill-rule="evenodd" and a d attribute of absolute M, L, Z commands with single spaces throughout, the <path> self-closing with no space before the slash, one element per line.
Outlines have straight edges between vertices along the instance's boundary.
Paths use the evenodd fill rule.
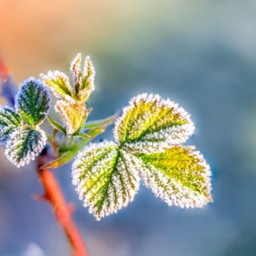
<path fill-rule="evenodd" d="M 45 83 L 46 86 L 50 87 L 50 89 L 53 92 L 53 95 L 55 95 L 55 97 L 57 99 L 64 99 L 64 100 L 67 100 L 69 102 L 74 102 L 75 103 L 75 100 L 73 99 L 72 96 L 63 92 L 63 90 L 60 90 L 58 86 L 50 85 L 49 82 L 46 82 L 47 80 L 50 80 L 50 81 L 60 80 L 60 81 L 64 82 L 64 84 L 65 84 L 65 85 L 62 85 L 62 87 L 65 87 L 70 92 L 70 94 L 73 95 L 73 88 L 71 87 L 70 82 L 69 82 L 69 78 L 68 78 L 67 75 L 65 75 L 65 73 L 60 72 L 58 70 L 49 71 L 47 73 L 47 75 L 41 74 L 40 78 L 43 80 L 43 82 Z"/>

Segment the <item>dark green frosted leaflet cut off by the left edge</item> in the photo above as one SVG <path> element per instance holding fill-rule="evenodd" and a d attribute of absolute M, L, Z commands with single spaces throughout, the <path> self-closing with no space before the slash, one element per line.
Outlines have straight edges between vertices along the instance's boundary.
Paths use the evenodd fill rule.
<path fill-rule="evenodd" d="M 9 135 L 21 125 L 21 118 L 11 107 L 0 107 L 0 146 L 6 144 Z"/>

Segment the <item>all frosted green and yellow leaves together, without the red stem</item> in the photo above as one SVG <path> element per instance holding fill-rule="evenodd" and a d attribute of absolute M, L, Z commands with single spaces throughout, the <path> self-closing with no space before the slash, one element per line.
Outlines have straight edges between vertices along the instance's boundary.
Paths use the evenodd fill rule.
<path fill-rule="evenodd" d="M 41 75 L 43 82 L 35 78 L 23 82 L 16 95 L 15 111 L 1 108 L 0 143 L 6 146 L 6 156 L 16 166 L 28 164 L 46 145 L 46 134 L 38 125 L 50 109 L 47 87 L 58 98 L 55 110 L 64 123 L 48 115 L 54 131 L 62 132 L 71 142 L 76 137 L 62 154 L 63 145 L 55 141 L 56 132 L 53 138 L 48 137 L 53 146 L 58 144 L 59 156 L 48 168 L 70 161 L 85 142 L 113 121 L 114 117 L 86 122 L 90 109 L 85 103 L 95 89 L 95 69 L 87 57 L 81 70 L 81 61 L 78 54 L 70 65 L 72 85 L 64 73 L 50 71 Z M 75 157 L 72 177 L 79 198 L 100 220 L 133 201 L 142 179 L 169 206 L 205 206 L 212 201 L 210 167 L 194 146 L 181 145 L 193 131 L 189 114 L 169 99 L 152 94 L 132 98 L 115 122 L 116 142 L 90 144 Z"/>

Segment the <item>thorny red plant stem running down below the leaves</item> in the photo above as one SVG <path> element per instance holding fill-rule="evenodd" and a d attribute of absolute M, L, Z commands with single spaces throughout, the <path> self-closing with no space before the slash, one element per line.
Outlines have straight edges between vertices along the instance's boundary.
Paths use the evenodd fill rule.
<path fill-rule="evenodd" d="M 41 199 L 48 201 L 55 213 L 58 223 L 63 228 L 71 247 L 73 247 L 73 256 L 87 256 L 85 243 L 72 220 L 72 208 L 65 202 L 58 181 L 50 169 L 40 169 L 45 164 L 45 156 L 38 156 L 37 172 L 39 181 L 41 181 L 45 190 Z"/>

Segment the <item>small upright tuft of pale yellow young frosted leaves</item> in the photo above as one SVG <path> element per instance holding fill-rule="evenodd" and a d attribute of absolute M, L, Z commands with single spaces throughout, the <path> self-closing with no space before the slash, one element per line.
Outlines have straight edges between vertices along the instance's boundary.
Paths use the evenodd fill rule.
<path fill-rule="evenodd" d="M 68 134 L 74 134 L 82 127 L 87 110 L 85 102 L 90 93 L 95 90 L 95 69 L 89 57 L 85 58 L 84 69 L 81 71 L 82 55 L 78 55 L 70 64 L 70 72 L 73 84 L 70 85 L 69 78 L 59 71 L 41 74 L 43 82 L 50 87 L 55 97 L 59 100 L 55 109 L 63 117 Z"/>

